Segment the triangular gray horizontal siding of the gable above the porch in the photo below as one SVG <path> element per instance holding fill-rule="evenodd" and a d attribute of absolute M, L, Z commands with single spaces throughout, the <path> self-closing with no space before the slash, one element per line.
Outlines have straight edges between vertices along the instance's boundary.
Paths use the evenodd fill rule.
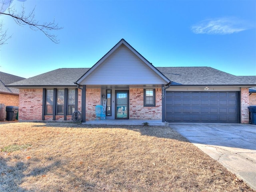
<path fill-rule="evenodd" d="M 165 84 L 147 64 L 126 46 L 121 45 L 80 84 L 86 85 L 137 85 Z"/>

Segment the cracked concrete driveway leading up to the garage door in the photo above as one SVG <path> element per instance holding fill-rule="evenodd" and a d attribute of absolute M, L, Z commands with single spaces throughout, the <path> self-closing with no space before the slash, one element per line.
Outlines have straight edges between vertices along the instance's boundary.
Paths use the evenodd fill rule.
<path fill-rule="evenodd" d="M 256 190 L 256 125 L 169 123 Z"/>

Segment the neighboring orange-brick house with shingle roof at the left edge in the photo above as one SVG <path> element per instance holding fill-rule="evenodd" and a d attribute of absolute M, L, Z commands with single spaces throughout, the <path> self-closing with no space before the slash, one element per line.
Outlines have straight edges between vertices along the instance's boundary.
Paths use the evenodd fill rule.
<path fill-rule="evenodd" d="M 25 78 L 0 72 L 0 104 L 19 106 L 19 89 L 5 85 L 24 80 Z"/>

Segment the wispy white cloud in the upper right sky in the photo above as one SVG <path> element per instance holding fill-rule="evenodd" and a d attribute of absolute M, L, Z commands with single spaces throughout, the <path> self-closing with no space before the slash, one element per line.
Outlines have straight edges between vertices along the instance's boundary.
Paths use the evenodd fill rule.
<path fill-rule="evenodd" d="M 200 21 L 191 27 L 196 34 L 232 34 L 249 29 L 249 25 L 234 17 L 215 18 Z"/>

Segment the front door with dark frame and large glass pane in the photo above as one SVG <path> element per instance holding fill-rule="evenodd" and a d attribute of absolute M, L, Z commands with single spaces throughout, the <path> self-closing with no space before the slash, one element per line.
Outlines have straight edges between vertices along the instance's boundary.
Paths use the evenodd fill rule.
<path fill-rule="evenodd" d="M 116 119 L 129 118 L 129 91 L 116 91 Z"/>

